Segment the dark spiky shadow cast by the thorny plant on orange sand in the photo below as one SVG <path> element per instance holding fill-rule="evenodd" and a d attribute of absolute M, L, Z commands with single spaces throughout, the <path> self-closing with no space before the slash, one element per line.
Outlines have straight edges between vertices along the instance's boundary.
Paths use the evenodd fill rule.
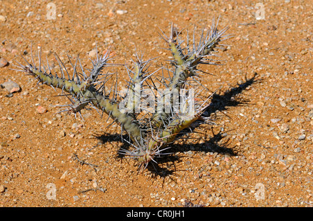
<path fill-rule="evenodd" d="M 223 112 L 228 107 L 237 107 L 240 105 L 248 105 L 250 103 L 250 100 L 239 98 L 238 95 L 242 94 L 244 90 L 247 89 L 250 85 L 255 84 L 256 82 L 259 82 L 260 80 L 256 80 L 257 73 L 255 73 L 254 76 L 250 79 L 246 79 L 245 82 L 236 85 L 235 87 L 232 87 L 231 89 L 223 92 L 220 92 L 220 94 L 215 93 L 211 98 L 211 103 L 209 107 L 206 109 L 206 114 L 211 116 L 212 114 L 216 112 Z M 197 128 L 197 127 L 195 127 Z M 181 132 L 180 135 L 177 135 L 177 139 L 188 139 L 184 137 L 184 134 L 190 133 L 190 129 L 185 129 Z M 220 154 L 228 154 L 230 156 L 236 156 L 237 153 L 232 149 L 229 148 L 227 145 L 227 141 L 224 141 L 225 136 L 227 136 L 227 132 L 218 132 L 214 134 L 212 130 L 213 136 L 211 136 L 208 140 L 205 140 L 202 143 L 196 143 L 193 142 L 192 144 L 184 143 L 184 144 L 177 144 L 172 143 L 170 145 L 170 150 L 168 152 L 172 154 L 165 154 L 162 157 L 157 157 L 157 163 L 149 163 L 147 166 L 147 170 L 149 170 L 152 175 L 159 176 L 159 177 L 167 177 L 168 175 L 175 175 L 175 171 L 177 171 L 177 168 L 175 167 L 175 163 L 179 163 L 182 161 L 182 158 L 184 157 L 178 157 L 177 152 L 186 152 L 186 151 L 192 151 L 192 152 L 217 152 Z M 106 142 L 113 142 L 113 141 L 122 141 L 120 134 L 95 134 L 95 138 L 99 139 L 101 143 Z M 123 139 L 129 139 L 127 135 L 123 135 Z M 122 145 L 120 145 L 119 149 L 128 149 L 129 144 L 126 142 L 123 142 Z M 124 154 L 118 153 L 119 158 L 125 157 Z"/>

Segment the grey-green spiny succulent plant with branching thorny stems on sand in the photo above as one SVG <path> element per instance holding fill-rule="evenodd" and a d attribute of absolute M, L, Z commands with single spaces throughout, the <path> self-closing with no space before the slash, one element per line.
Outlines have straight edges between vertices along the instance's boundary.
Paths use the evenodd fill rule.
<path fill-rule="evenodd" d="M 225 35 L 227 29 L 218 30 L 218 21 L 213 19 L 211 28 L 202 29 L 198 41 L 195 30 L 192 40 L 187 31 L 186 41 L 180 39 L 182 32 L 173 25 L 169 35 L 161 31 L 159 34 L 172 53 L 170 68 L 150 71 L 152 59 L 143 60 L 136 55 L 132 67 L 126 67 L 129 81 L 124 96 L 118 90 L 118 78 L 109 84 L 114 74 L 104 71 L 114 65 L 109 63 L 113 59 L 110 50 L 102 56 L 97 53 L 97 58 L 92 60 L 93 67 L 88 70 L 83 69 L 79 56 L 75 61 L 68 56 L 74 70 L 71 74 L 56 53 L 61 73 L 52 73 L 49 61 L 44 64 L 42 60 L 41 50 L 37 64 L 31 52 L 31 62 L 23 57 L 26 63 L 17 62 L 15 66 L 19 68 L 16 71 L 35 77 L 38 83 L 61 89 L 71 101 L 70 105 L 64 105 L 67 107 L 64 112 L 81 115 L 81 110 L 91 105 L 99 109 L 100 114 L 112 118 L 120 125 L 121 135 L 129 137 L 122 136 L 129 148 L 121 149 L 120 153 L 136 159 L 143 169 L 148 163 L 157 163 L 157 157 L 170 154 L 170 144 L 182 130 L 198 121 L 209 123 L 209 118 L 202 116 L 210 96 L 199 96 L 198 86 L 203 86 L 201 78 L 207 74 L 200 69 L 200 64 L 217 64 L 216 52 L 225 48 L 222 42 L 230 37 Z"/>

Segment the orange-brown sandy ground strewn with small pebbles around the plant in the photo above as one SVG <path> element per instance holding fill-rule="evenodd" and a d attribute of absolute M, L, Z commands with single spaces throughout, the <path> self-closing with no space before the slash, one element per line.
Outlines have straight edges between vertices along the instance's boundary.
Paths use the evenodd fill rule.
<path fill-rule="evenodd" d="M 50 3 L 50 4 L 49 4 Z M 310 1 L 0 1 L 0 206 L 312 206 L 312 2 Z M 55 12 L 55 14 L 54 14 Z M 55 17 L 54 17 L 55 15 Z M 138 173 L 118 155 L 120 128 L 93 109 L 56 114 L 68 103 L 13 64 L 30 46 L 57 69 L 80 54 L 90 67 L 97 43 L 115 63 L 136 51 L 166 64 L 173 22 L 193 31 L 220 18 L 229 26 L 222 66 L 204 67 L 216 95 L 207 110 L 216 125 L 172 145 L 170 157 Z M 186 36 L 186 31 L 182 35 Z M 68 64 L 68 62 L 66 63 Z M 115 67 L 122 88 L 123 67 Z M 38 114 L 42 106 L 47 112 Z M 77 158 L 88 164 L 79 163 Z M 95 165 L 95 166 L 93 166 Z M 189 203 L 186 203 L 189 202 Z"/>

